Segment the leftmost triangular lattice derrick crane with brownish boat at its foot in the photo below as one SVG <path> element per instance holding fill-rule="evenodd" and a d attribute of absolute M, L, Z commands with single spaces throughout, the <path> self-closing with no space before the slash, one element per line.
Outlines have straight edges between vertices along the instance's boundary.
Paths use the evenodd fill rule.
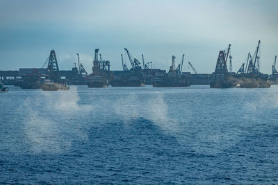
<path fill-rule="evenodd" d="M 68 90 L 70 87 L 67 86 L 67 82 L 61 80 L 56 53 L 54 50 L 50 51 L 49 62 L 47 66 L 47 74 L 43 75 L 47 79 L 41 85 L 43 91 L 57 91 L 57 90 Z"/>

